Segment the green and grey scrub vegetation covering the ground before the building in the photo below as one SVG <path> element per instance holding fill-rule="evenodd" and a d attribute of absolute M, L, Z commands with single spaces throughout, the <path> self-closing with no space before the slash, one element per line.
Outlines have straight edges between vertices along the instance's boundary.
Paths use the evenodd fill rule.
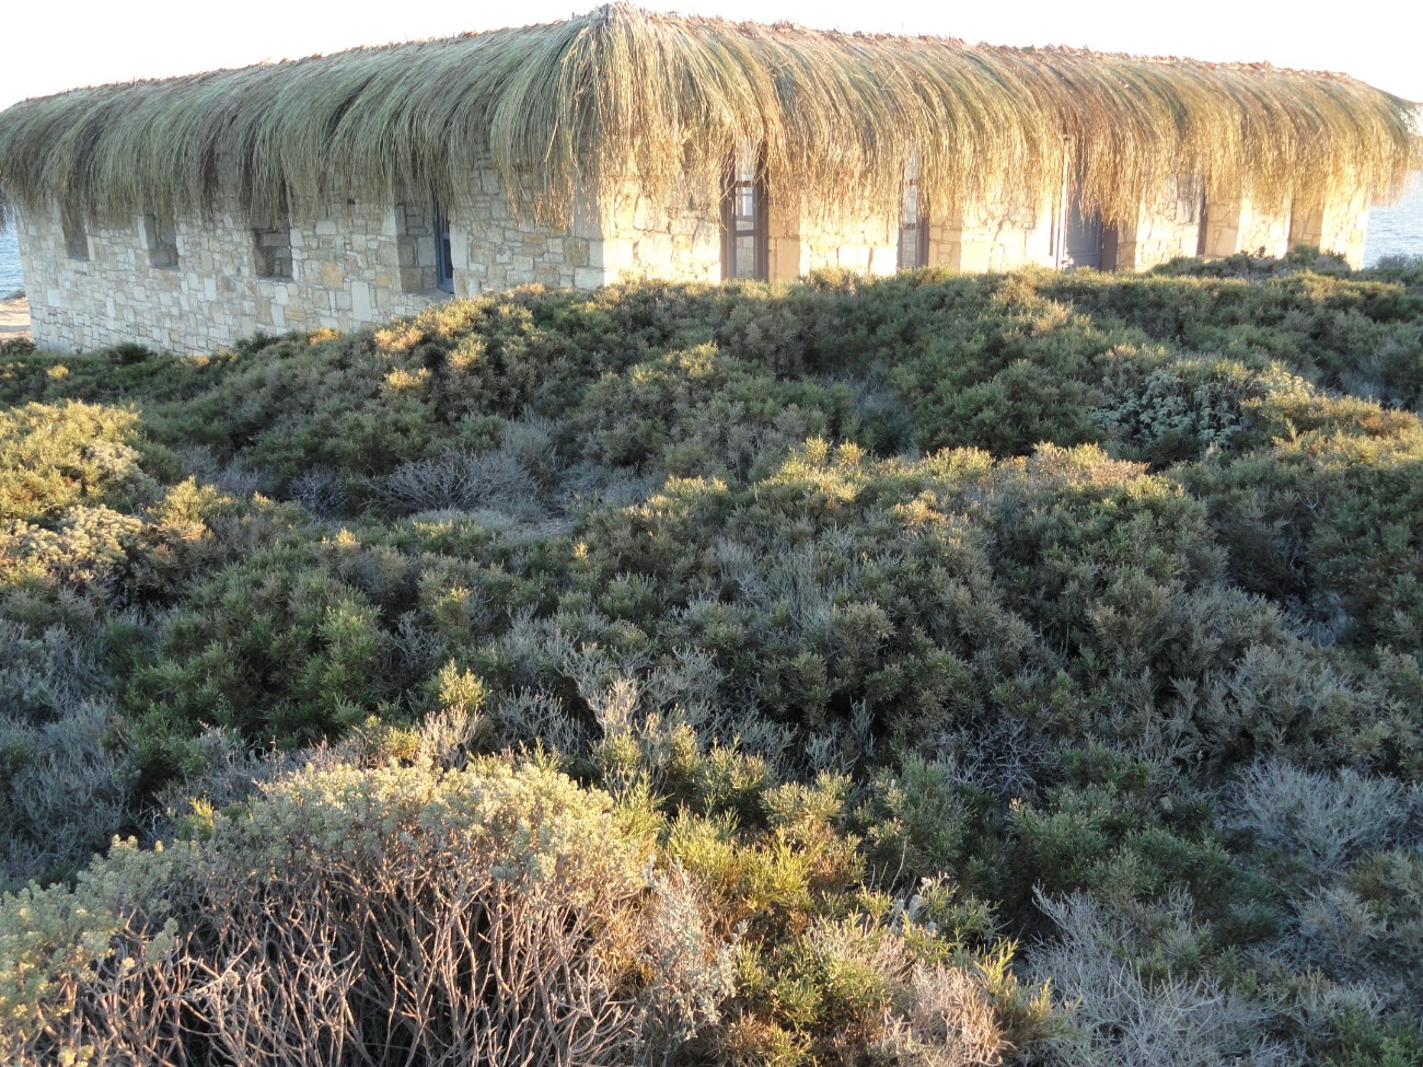
<path fill-rule="evenodd" d="M 1423 1064 L 1416 263 L 522 289 L 0 401 L 6 1063 Z"/>

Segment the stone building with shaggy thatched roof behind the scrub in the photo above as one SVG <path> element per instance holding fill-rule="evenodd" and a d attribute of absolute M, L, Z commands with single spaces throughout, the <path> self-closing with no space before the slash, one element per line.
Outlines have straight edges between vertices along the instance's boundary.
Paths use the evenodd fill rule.
<path fill-rule="evenodd" d="M 0 202 L 38 344 L 203 351 L 528 283 L 1358 263 L 1410 122 L 1342 75 L 618 4 L 26 101 Z"/>

